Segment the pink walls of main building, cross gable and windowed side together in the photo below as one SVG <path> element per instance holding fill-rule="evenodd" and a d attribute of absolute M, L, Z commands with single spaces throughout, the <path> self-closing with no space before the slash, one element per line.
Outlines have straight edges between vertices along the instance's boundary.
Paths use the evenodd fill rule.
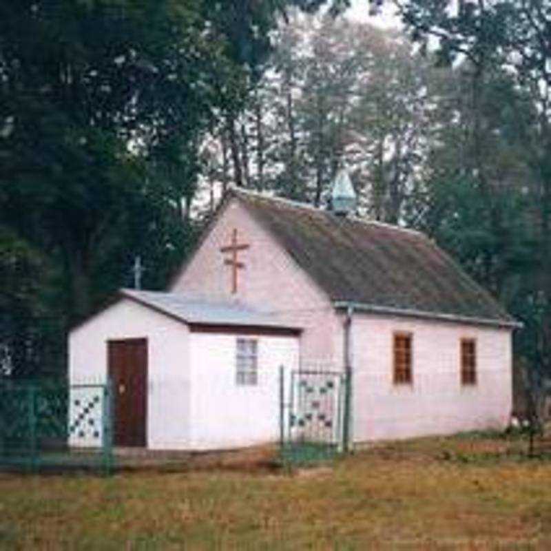
<path fill-rule="evenodd" d="M 231 269 L 224 265 L 233 229 L 250 245 L 239 259 L 238 293 L 231 293 Z M 343 367 L 343 316 L 271 234 L 231 200 L 200 249 L 171 289 L 232 299 L 277 313 L 304 328 L 302 365 Z M 395 331 L 413 333 L 412 386 L 395 386 Z M 459 340 L 477 340 L 478 384 L 461 387 Z M 511 410 L 511 332 L 450 322 L 355 313 L 353 350 L 353 439 L 395 439 L 461 430 L 503 427 Z"/>

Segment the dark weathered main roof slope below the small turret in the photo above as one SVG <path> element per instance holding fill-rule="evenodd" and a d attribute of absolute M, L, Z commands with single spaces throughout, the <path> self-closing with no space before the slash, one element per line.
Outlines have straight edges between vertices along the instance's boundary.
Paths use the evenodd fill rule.
<path fill-rule="evenodd" d="M 374 311 L 514 325 L 513 318 L 422 233 L 340 218 L 307 205 L 231 191 L 333 302 Z"/>

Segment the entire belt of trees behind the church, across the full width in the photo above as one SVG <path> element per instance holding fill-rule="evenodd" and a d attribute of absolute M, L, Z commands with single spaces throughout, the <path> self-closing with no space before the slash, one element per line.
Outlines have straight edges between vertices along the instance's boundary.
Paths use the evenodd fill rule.
<path fill-rule="evenodd" d="M 550 8 L 304 15 L 348 4 L 1 3 L 1 369 L 62 372 L 67 327 L 136 255 L 162 289 L 230 183 L 322 206 L 346 165 L 360 216 L 435 238 L 551 372 Z"/>

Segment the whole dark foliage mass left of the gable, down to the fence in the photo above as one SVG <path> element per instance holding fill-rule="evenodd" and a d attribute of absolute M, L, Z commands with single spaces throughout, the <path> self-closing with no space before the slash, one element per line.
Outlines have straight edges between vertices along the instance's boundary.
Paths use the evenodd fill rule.
<path fill-rule="evenodd" d="M 2 304 L 1 335 L 63 342 L 67 326 L 130 282 L 134 255 L 144 284 L 164 286 L 194 238 L 198 145 L 222 110 L 240 108 L 287 3 L 0 4 L 2 269 L 28 265 L 45 301 L 39 315 L 26 278 L 2 273 L 3 293 L 19 302 Z M 25 339 L 17 350 L 2 340 L 15 374 L 28 373 L 29 351 L 43 355 Z M 57 357 L 30 371 L 61 369 Z"/>

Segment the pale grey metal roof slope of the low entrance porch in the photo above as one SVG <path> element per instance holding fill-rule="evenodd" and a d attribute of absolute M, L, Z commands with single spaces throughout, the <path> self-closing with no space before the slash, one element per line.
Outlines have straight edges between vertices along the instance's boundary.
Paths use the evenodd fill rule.
<path fill-rule="evenodd" d="M 121 289 L 120 294 L 124 298 L 134 300 L 189 325 L 224 325 L 300 331 L 296 326 L 282 325 L 273 315 L 234 302 L 216 302 L 180 293 L 134 289 Z"/>

